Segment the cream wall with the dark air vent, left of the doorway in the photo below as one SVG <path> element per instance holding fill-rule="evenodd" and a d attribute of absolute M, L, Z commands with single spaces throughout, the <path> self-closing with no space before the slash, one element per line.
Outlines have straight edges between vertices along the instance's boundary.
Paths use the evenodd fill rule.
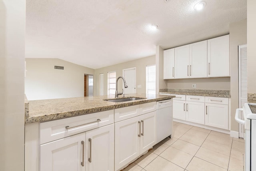
<path fill-rule="evenodd" d="M 56 70 L 54 66 L 63 66 Z M 28 100 L 84 96 L 84 74 L 94 69 L 60 59 L 26 58 L 25 93 Z"/>

